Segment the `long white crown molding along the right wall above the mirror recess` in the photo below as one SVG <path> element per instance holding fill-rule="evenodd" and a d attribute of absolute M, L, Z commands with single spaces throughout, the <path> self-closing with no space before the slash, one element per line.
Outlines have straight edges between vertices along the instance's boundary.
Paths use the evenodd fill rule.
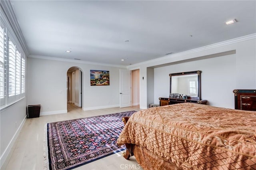
<path fill-rule="evenodd" d="M 133 64 L 133 65 L 127 66 L 127 69 L 131 69 L 133 67 L 138 67 L 139 65 L 155 63 L 157 61 L 164 61 L 166 59 L 171 59 L 171 58 L 174 58 L 174 57 L 178 57 L 180 55 L 196 53 L 196 52 L 204 51 L 204 50 L 207 50 L 207 49 L 212 49 L 212 48 L 217 48 L 217 47 L 221 47 L 221 46 L 225 46 L 225 45 L 230 45 L 230 44 L 233 44 L 233 43 L 252 40 L 252 39 L 255 39 L 255 38 L 256 38 L 256 34 L 250 34 L 250 35 L 247 35 L 247 36 L 242 36 L 242 37 L 234 38 L 234 39 L 231 39 L 231 40 L 226 40 L 224 42 L 218 42 L 218 43 L 214 43 L 214 44 L 211 44 L 211 45 L 206 45 L 206 46 L 203 46 L 203 47 L 190 49 L 188 51 L 183 51 L 183 52 L 180 52 L 180 53 L 174 53 L 174 54 L 170 54 L 170 55 L 167 55 L 167 56 L 164 56 L 164 57 L 144 61 L 144 62 L 141 62 L 141 63 L 136 63 L 136 64 Z M 154 65 L 152 65 L 152 66 L 154 66 Z"/>

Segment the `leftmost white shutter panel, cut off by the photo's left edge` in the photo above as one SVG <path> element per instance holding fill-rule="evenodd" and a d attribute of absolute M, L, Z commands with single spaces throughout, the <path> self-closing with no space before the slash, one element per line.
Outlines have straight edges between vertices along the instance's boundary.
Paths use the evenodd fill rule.
<path fill-rule="evenodd" d="M 4 28 L 0 27 L 0 99 L 4 98 Z"/>

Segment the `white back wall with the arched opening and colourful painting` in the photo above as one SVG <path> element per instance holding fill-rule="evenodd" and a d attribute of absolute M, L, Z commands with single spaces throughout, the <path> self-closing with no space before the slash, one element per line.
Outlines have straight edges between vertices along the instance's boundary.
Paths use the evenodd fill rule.
<path fill-rule="evenodd" d="M 41 104 L 41 115 L 66 113 L 66 77 L 73 66 L 82 71 L 84 110 L 119 107 L 119 67 L 33 57 L 28 57 L 28 105 Z M 90 69 L 110 71 L 110 85 L 90 86 Z"/>

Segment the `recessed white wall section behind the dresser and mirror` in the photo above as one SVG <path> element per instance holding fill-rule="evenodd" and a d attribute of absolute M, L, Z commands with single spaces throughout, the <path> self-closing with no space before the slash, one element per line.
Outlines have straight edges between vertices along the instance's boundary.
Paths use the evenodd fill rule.
<path fill-rule="evenodd" d="M 207 100 L 208 105 L 234 108 L 235 54 L 155 68 L 154 101 L 159 103 L 159 97 L 168 97 L 170 73 L 196 70 L 202 71 L 201 98 Z"/>

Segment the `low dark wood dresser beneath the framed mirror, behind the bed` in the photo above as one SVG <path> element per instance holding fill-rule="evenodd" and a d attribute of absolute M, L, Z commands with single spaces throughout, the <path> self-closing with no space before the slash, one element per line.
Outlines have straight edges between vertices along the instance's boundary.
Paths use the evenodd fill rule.
<path fill-rule="evenodd" d="M 170 98 L 170 97 L 159 97 L 160 106 L 164 105 L 172 105 L 177 103 L 198 103 L 202 105 L 206 105 L 207 100 L 196 100 L 196 99 L 177 99 L 177 98 Z"/>

